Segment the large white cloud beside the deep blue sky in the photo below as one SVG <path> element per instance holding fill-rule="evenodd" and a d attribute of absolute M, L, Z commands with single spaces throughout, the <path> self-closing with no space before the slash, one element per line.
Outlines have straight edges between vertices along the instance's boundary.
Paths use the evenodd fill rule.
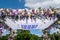
<path fill-rule="evenodd" d="M 48 8 L 49 6 L 60 7 L 60 0 L 25 0 L 25 7 Z"/>

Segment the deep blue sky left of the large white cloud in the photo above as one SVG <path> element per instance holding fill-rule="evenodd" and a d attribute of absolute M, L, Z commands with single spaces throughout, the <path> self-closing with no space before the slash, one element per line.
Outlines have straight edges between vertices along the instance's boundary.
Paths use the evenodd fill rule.
<path fill-rule="evenodd" d="M 0 8 L 25 8 L 25 0 L 0 0 Z"/>

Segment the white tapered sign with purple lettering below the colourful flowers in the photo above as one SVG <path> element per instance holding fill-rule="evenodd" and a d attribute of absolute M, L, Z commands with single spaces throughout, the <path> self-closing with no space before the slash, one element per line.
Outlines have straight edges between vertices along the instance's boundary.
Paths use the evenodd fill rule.
<path fill-rule="evenodd" d="M 53 24 L 55 21 L 57 20 L 57 18 L 55 18 L 55 20 L 53 19 L 36 19 L 36 22 L 33 20 L 31 22 L 31 19 L 28 19 L 28 23 L 26 23 L 26 20 L 12 20 L 7 18 L 6 19 L 6 24 L 11 27 L 12 29 L 24 29 L 25 27 L 22 27 L 21 25 L 27 25 L 25 30 L 30 30 L 30 29 L 40 29 L 40 30 L 44 30 L 45 28 L 48 28 L 51 24 Z M 28 25 L 35 25 L 35 27 L 28 27 Z M 37 26 L 36 26 L 37 25 Z"/>

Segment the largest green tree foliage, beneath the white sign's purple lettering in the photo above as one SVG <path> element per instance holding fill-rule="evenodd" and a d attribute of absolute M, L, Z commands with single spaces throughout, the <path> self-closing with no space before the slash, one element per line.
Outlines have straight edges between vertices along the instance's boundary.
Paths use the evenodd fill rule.
<path fill-rule="evenodd" d="M 18 30 L 16 40 L 40 40 L 40 37 L 30 34 L 28 30 Z"/>

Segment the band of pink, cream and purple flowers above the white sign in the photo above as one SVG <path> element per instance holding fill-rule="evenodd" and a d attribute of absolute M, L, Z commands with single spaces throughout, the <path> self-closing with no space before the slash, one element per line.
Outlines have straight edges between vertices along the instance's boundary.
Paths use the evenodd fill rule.
<path fill-rule="evenodd" d="M 38 19 L 48 19 L 48 18 L 55 18 L 56 11 L 54 9 L 0 9 L 0 19 L 3 19 L 8 17 L 12 19 L 34 19 L 36 21 L 36 18 Z"/>

